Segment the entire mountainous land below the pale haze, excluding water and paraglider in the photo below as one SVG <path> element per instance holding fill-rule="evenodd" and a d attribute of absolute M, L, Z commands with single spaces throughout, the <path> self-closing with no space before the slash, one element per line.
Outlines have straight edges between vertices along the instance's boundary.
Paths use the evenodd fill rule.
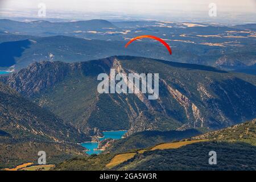
<path fill-rule="evenodd" d="M 173 54 L 151 39 L 125 48 L 139 35 Z M 0 19 L 0 70 L 13 71 L 0 75 L 0 169 L 45 151 L 55 170 L 255 171 L 255 39 L 256 24 Z M 99 93 L 113 70 L 158 73 L 159 97 Z"/>

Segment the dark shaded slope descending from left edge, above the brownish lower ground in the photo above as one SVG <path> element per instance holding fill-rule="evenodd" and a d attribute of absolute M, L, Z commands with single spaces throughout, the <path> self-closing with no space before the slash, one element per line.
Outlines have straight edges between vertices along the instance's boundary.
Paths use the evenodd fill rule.
<path fill-rule="evenodd" d="M 82 142 L 89 137 L 0 82 L 0 130 L 13 139 Z"/>

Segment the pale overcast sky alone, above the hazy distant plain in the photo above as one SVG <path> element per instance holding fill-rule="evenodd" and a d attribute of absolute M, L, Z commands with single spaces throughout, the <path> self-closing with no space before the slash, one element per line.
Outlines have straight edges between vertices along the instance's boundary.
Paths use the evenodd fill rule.
<path fill-rule="evenodd" d="M 39 3 L 45 3 L 47 10 L 59 12 L 171 16 L 178 11 L 183 14 L 208 12 L 212 2 L 216 3 L 219 13 L 256 13 L 256 0 L 0 0 L 0 7 L 15 12 L 36 10 Z"/>

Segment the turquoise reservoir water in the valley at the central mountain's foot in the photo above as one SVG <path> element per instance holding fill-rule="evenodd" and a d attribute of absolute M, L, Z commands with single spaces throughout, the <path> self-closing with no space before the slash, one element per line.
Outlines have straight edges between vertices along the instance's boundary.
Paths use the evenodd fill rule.
<path fill-rule="evenodd" d="M 104 131 L 102 138 L 100 140 L 104 139 L 121 139 L 122 136 L 126 133 L 127 131 Z M 81 143 L 82 147 L 87 148 L 89 151 L 86 151 L 86 154 L 92 155 L 92 154 L 100 154 L 102 151 L 101 150 L 95 150 L 98 148 L 98 142 L 85 142 Z"/>

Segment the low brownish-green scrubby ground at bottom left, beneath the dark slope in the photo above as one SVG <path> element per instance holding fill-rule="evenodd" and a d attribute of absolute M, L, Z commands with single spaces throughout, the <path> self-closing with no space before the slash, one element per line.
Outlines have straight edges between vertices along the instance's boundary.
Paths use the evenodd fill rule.
<path fill-rule="evenodd" d="M 51 140 L 16 140 L 0 137 L 0 170 L 23 163 L 38 164 L 39 151 L 46 152 L 47 164 L 58 164 L 76 156 L 85 156 L 84 148 L 75 143 Z"/>

